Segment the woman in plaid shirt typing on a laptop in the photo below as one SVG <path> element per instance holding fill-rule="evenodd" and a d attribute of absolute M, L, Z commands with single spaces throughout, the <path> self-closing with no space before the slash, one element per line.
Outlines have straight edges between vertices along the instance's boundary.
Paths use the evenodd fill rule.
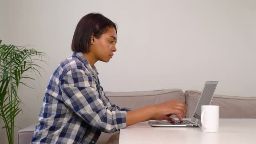
<path fill-rule="evenodd" d="M 109 62 L 116 52 L 117 27 L 99 13 L 89 13 L 76 26 L 72 56 L 53 72 L 47 86 L 32 143 L 93 144 L 101 132 L 113 133 L 141 121 L 182 121 L 187 108 L 166 101 L 135 111 L 113 105 L 103 92 L 95 67 Z"/>

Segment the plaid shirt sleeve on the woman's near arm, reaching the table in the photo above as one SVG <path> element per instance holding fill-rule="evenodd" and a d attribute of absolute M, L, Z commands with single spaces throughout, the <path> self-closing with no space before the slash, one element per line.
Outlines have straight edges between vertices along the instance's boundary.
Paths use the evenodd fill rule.
<path fill-rule="evenodd" d="M 61 80 L 62 101 L 88 124 L 106 133 L 126 127 L 126 111 L 112 111 L 90 87 L 81 69 L 72 69 Z"/>

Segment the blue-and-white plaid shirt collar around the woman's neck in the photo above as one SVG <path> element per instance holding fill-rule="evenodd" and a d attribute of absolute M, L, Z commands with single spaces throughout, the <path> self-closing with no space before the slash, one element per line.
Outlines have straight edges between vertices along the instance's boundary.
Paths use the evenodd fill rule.
<path fill-rule="evenodd" d="M 89 72 L 93 75 L 93 76 L 97 76 L 98 75 L 98 71 L 95 67 L 95 65 L 91 66 L 88 62 L 88 60 L 86 59 L 86 57 L 83 55 L 82 52 L 74 52 L 73 56 L 77 57 L 81 62 L 83 62 L 83 64 L 85 65 L 85 67 L 89 70 Z"/>

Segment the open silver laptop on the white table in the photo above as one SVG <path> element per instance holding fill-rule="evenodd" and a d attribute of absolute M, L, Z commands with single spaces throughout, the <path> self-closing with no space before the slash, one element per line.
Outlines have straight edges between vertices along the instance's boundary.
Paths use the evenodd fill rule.
<path fill-rule="evenodd" d="M 199 127 L 201 126 L 201 106 L 210 105 L 219 81 L 205 82 L 196 110 L 192 118 L 183 118 L 183 121 L 148 121 L 152 127 Z"/>

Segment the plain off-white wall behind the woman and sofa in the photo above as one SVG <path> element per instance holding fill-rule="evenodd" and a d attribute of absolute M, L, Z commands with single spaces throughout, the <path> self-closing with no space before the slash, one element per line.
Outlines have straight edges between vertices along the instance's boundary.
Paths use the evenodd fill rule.
<path fill-rule="evenodd" d="M 96 63 L 105 91 L 201 90 L 219 80 L 217 94 L 256 96 L 255 0 L 1 0 L 0 39 L 49 56 L 35 89 L 20 87 L 16 126 L 38 121 L 49 77 L 72 54 L 75 26 L 91 12 L 118 24 L 115 56 Z"/>

